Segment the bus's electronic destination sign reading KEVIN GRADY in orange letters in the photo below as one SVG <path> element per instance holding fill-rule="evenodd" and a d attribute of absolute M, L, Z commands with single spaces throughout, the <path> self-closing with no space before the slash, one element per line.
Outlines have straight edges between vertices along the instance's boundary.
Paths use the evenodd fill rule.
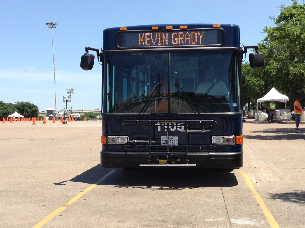
<path fill-rule="evenodd" d="M 222 29 L 185 31 L 118 32 L 117 46 L 121 48 L 153 48 L 173 46 L 219 46 L 223 44 Z"/>

